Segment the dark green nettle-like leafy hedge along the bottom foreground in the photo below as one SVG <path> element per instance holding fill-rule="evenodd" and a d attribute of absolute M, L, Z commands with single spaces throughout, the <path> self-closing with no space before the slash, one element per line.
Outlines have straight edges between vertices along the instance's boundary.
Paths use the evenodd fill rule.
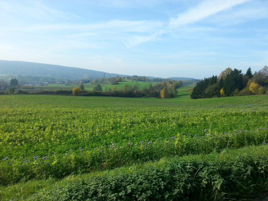
<path fill-rule="evenodd" d="M 222 200 L 267 189 L 268 159 L 248 155 L 227 161 L 173 159 L 116 176 L 91 177 L 39 193 L 29 200 Z"/>

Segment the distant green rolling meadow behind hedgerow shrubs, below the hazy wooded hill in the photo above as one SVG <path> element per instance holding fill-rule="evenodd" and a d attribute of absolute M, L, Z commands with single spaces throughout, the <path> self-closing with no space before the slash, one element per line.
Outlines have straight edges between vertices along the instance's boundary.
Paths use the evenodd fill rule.
<path fill-rule="evenodd" d="M 149 87 L 150 84 L 152 84 L 153 86 L 156 85 L 158 82 L 151 82 L 151 81 L 135 81 L 135 80 L 129 80 L 129 79 L 122 79 L 123 82 L 120 82 L 117 85 L 112 85 L 110 82 L 108 81 L 103 81 L 103 82 L 96 82 L 96 83 L 87 83 L 84 84 L 85 86 L 85 90 L 88 91 L 92 91 L 93 88 L 97 85 L 100 84 L 102 86 L 102 90 L 106 91 L 109 88 L 113 88 L 113 87 L 117 87 L 118 90 L 122 90 L 124 85 L 130 85 L 130 86 L 134 86 L 134 85 L 138 85 L 138 87 L 140 89 L 143 89 L 144 87 Z M 133 82 L 132 82 L 133 81 Z M 80 84 L 48 84 L 47 86 L 37 86 L 34 87 L 35 89 L 43 89 L 43 90 L 72 90 L 75 87 L 79 87 Z"/>

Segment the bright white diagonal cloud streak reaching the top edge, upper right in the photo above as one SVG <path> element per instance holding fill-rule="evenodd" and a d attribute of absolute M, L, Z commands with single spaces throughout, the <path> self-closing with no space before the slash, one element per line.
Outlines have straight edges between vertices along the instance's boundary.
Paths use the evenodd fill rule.
<path fill-rule="evenodd" d="M 250 0 L 206 0 L 195 8 L 185 13 L 179 14 L 177 18 L 171 18 L 170 27 L 178 27 L 180 25 L 196 23 L 204 18 L 214 15 L 223 10 L 232 8 L 233 6 L 245 3 Z"/>

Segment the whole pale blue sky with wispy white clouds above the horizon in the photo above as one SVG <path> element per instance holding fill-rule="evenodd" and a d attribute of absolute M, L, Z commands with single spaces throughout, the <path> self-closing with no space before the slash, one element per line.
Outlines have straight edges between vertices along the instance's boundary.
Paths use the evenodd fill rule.
<path fill-rule="evenodd" d="M 0 0 L 0 59 L 203 78 L 268 65 L 268 1 Z"/>

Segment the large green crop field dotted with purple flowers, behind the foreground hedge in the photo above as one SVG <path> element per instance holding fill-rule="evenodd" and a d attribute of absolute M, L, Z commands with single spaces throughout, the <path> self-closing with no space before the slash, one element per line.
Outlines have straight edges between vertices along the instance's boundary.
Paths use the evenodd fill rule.
<path fill-rule="evenodd" d="M 0 96 L 0 183 L 268 143 L 268 97 Z"/>

